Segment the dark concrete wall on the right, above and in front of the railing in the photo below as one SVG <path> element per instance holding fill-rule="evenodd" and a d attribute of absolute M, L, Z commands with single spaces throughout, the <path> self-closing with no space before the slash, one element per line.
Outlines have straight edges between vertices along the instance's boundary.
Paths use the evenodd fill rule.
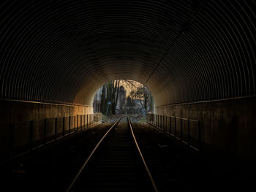
<path fill-rule="evenodd" d="M 256 97 L 156 107 L 156 113 L 200 121 L 201 150 L 256 159 Z"/>

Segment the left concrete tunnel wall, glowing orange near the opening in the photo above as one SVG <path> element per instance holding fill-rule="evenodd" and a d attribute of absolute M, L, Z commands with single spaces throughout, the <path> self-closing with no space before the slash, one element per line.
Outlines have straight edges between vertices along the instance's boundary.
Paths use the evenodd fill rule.
<path fill-rule="evenodd" d="M 4 100 L 0 106 L 0 161 L 93 121 L 90 106 Z"/>

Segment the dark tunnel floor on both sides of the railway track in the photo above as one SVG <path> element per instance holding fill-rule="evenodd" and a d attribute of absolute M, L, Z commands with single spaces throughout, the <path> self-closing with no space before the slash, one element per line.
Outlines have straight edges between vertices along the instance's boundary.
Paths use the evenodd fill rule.
<path fill-rule="evenodd" d="M 1 165 L 1 181 L 8 191 L 65 191 L 110 124 L 103 123 L 28 153 L 15 159 L 11 169 L 10 165 Z M 256 191 L 255 167 L 246 162 L 203 155 L 148 124 L 134 126 L 160 192 Z"/>

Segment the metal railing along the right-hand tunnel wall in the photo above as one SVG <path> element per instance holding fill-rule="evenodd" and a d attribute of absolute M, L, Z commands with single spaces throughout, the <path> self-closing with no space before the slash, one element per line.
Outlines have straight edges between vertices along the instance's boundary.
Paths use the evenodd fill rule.
<path fill-rule="evenodd" d="M 199 151 L 200 149 L 200 122 L 189 118 L 176 116 L 146 114 L 147 123 L 170 134 L 189 147 Z"/>

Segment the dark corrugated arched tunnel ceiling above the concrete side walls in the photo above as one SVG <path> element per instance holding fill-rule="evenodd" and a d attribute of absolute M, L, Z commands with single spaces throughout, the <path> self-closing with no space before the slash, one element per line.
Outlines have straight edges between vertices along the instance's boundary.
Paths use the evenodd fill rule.
<path fill-rule="evenodd" d="M 157 105 L 255 95 L 255 1 L 5 1 L 1 99 L 91 104 L 114 79 Z"/>

